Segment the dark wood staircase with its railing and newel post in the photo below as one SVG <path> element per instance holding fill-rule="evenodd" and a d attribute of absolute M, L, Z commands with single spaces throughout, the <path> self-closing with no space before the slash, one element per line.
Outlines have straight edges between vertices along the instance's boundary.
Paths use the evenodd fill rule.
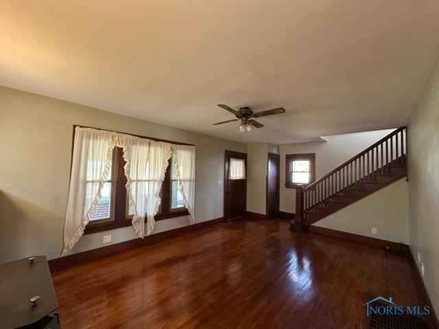
<path fill-rule="evenodd" d="M 296 189 L 298 232 L 407 175 L 407 127 L 388 134 L 305 188 Z"/>

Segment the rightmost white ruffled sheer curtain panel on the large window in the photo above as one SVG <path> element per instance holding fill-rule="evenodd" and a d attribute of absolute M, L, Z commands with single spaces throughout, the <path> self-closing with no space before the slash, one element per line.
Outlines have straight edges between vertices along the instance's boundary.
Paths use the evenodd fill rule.
<path fill-rule="evenodd" d="M 195 146 L 173 145 L 177 180 L 191 223 L 195 222 Z"/>

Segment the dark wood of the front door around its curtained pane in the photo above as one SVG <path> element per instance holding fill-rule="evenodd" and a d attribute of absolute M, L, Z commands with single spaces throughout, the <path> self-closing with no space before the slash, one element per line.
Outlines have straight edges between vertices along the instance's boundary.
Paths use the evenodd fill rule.
<path fill-rule="evenodd" d="M 230 160 L 244 160 L 244 171 L 247 175 L 247 154 L 226 151 L 224 157 L 224 219 L 242 217 L 246 213 L 247 180 L 230 179 Z"/>

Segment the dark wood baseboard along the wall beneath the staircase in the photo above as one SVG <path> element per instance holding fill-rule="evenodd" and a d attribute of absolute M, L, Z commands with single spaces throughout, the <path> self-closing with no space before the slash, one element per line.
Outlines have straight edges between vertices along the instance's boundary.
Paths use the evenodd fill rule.
<path fill-rule="evenodd" d="M 310 225 L 308 227 L 308 230 L 309 232 L 333 236 L 335 238 L 348 240 L 348 241 L 355 241 L 366 245 L 370 245 L 372 247 L 378 247 L 380 249 L 384 249 L 390 252 L 396 252 L 398 254 L 406 254 L 406 255 L 410 254 L 409 246 L 405 245 L 404 243 L 396 243 L 392 241 L 375 239 L 375 238 L 371 238 L 370 236 L 343 232 L 339 230 L 332 230 L 331 228 L 322 228 L 320 226 L 314 226 L 314 225 Z"/>

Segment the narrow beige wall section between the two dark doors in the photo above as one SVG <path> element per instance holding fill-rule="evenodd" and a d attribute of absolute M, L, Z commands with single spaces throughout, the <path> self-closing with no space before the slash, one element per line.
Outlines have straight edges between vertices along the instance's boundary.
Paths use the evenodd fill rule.
<path fill-rule="evenodd" d="M 247 144 L 247 211 L 266 214 L 268 143 Z"/>

